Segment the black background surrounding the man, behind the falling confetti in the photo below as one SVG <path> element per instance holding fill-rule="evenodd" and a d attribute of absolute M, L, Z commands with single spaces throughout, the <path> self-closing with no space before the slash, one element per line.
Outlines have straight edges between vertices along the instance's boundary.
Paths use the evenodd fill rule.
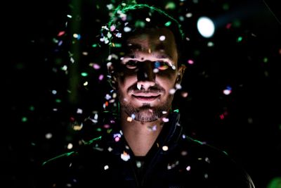
<path fill-rule="evenodd" d="M 105 51 L 93 44 L 98 44 L 100 27 L 107 22 L 107 5 L 118 2 L 3 4 L 1 136 L 8 187 L 35 187 L 34 173 L 42 161 L 69 151 L 69 143 L 75 148 L 89 136 L 86 127 L 74 131 L 72 125 L 93 111 L 103 111 L 105 95 L 110 94 Z M 166 11 L 185 18 L 181 22 L 190 38 L 185 51 L 194 64 L 185 62 L 188 69 L 183 89 L 176 94 L 176 107 L 188 134 L 230 153 L 257 188 L 281 177 L 281 11 L 277 2 L 139 2 L 160 8 L 172 2 L 176 8 Z M 192 17 L 185 17 L 186 13 Z M 201 15 L 215 21 L 214 37 L 205 39 L 197 32 Z M 61 31 L 65 34 L 58 36 Z M 72 37 L 74 33 L 81 38 Z M 214 46 L 207 46 L 208 42 Z M 90 63 L 101 68 L 94 69 Z M 232 89 L 229 95 L 223 94 L 227 87 Z M 188 92 L 188 97 L 181 92 Z M 77 113 L 78 108 L 82 113 Z M 46 138 L 48 133 L 51 139 Z"/>

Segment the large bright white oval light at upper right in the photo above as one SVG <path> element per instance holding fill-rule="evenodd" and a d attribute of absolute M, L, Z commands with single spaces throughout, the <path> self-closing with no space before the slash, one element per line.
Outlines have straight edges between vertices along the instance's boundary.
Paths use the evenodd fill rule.
<path fill-rule="evenodd" d="M 197 21 L 197 30 L 205 38 L 212 37 L 215 32 L 214 22 L 206 16 L 200 17 Z"/>

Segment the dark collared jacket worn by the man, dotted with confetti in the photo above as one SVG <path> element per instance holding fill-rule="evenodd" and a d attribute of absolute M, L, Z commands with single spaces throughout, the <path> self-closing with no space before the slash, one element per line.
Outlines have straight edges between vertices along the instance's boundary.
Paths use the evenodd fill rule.
<path fill-rule="evenodd" d="M 178 113 L 169 116 L 145 158 L 133 156 L 117 125 L 77 151 L 46 161 L 38 187 L 254 187 L 227 153 L 185 135 Z"/>

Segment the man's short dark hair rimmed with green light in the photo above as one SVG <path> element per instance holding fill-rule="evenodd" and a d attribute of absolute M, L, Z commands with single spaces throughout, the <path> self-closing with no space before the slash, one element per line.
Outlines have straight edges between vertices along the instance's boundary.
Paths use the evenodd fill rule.
<path fill-rule="evenodd" d="M 173 32 L 180 59 L 184 39 L 181 24 L 171 15 L 155 6 L 120 4 L 113 11 L 110 21 L 102 28 L 101 35 L 103 42 L 109 45 L 109 53 L 111 54 L 113 51 L 118 51 L 119 46 L 122 46 L 133 33 L 150 28 L 167 28 Z"/>

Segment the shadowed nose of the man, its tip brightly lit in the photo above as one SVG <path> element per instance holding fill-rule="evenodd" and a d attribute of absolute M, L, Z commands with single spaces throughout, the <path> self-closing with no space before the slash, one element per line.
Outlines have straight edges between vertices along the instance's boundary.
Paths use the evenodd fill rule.
<path fill-rule="evenodd" d="M 143 61 L 139 63 L 137 78 L 138 87 L 143 87 L 143 89 L 148 89 L 155 85 L 155 73 L 153 72 L 154 65 L 151 61 Z"/>

